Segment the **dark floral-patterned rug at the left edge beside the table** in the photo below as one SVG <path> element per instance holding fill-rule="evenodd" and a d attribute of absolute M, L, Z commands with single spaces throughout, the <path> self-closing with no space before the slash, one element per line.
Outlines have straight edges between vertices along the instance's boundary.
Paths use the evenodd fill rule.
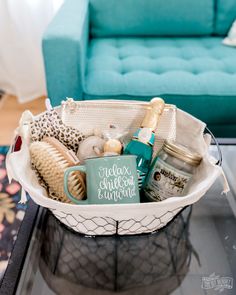
<path fill-rule="evenodd" d="M 15 181 L 11 184 L 8 182 L 5 167 L 8 148 L 0 146 L 0 281 L 6 270 L 26 209 L 26 205 L 18 203 L 21 196 L 20 185 Z"/>

